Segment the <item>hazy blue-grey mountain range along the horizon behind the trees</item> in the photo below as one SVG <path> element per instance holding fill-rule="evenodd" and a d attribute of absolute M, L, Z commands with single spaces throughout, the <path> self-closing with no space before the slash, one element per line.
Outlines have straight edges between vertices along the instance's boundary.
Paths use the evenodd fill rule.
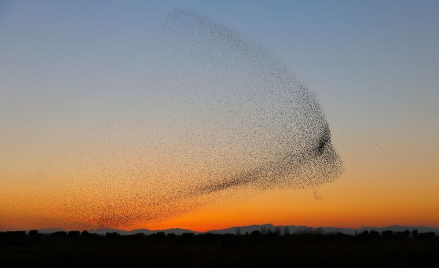
<path fill-rule="evenodd" d="M 165 234 L 174 233 L 176 235 L 182 235 L 183 233 L 194 233 L 194 234 L 205 234 L 205 233 L 212 233 L 212 234 L 236 234 L 237 229 L 239 228 L 239 233 L 241 235 L 244 235 L 245 233 L 251 233 L 253 231 L 261 231 L 266 230 L 266 232 L 275 232 L 277 228 L 279 228 L 281 234 L 283 234 L 286 231 L 286 228 L 288 228 L 288 232 L 290 234 L 294 234 L 296 232 L 320 232 L 322 231 L 325 234 L 328 233 L 343 233 L 347 235 L 355 235 L 355 233 L 362 233 L 364 231 L 372 231 L 375 230 L 377 232 L 382 232 L 386 230 L 390 230 L 393 232 L 403 232 L 406 230 L 414 230 L 417 229 L 419 233 L 425 233 L 425 232 L 435 232 L 437 236 L 439 236 L 439 228 L 432 228 L 432 227 L 423 227 L 423 226 L 400 226 L 400 225 L 392 225 L 392 226 L 386 226 L 386 227 L 361 227 L 359 229 L 353 229 L 353 228 L 336 228 L 336 227 L 319 227 L 319 228 L 313 228 L 313 227 L 306 227 L 306 226 L 295 226 L 295 225 L 289 225 L 289 226 L 274 226 L 272 224 L 264 224 L 264 225 L 250 225 L 250 226 L 240 226 L 240 227 L 231 227 L 227 229 L 220 229 L 220 230 L 211 230 L 207 232 L 195 232 L 189 229 L 181 229 L 181 228 L 171 228 L 171 229 L 165 229 L 165 230 L 149 230 L 149 229 L 136 229 L 132 231 L 124 231 L 119 229 L 96 229 L 96 230 L 88 230 L 89 233 L 94 233 L 98 235 L 105 235 L 106 233 L 118 233 L 120 235 L 135 235 L 143 233 L 145 235 L 151 235 L 158 232 L 164 232 Z M 50 234 L 54 232 L 59 231 L 65 231 L 60 228 L 45 228 L 45 229 L 39 229 L 38 232 L 42 234 Z"/>

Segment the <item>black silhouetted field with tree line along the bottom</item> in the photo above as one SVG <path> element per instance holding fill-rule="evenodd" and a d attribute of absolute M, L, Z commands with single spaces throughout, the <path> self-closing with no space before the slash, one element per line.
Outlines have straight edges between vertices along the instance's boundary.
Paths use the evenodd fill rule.
<path fill-rule="evenodd" d="M 437 267 L 435 233 L 0 233 L 0 267 Z"/>

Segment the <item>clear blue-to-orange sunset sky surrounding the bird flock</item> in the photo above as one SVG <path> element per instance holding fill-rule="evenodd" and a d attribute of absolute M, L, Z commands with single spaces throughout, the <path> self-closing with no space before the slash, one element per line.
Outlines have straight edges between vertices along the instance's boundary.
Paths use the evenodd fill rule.
<path fill-rule="evenodd" d="M 315 92 L 345 171 L 119 228 L 439 227 L 438 1 L 2 0 L 0 230 L 57 227 L 24 220 L 43 216 L 20 202 L 29 176 L 142 87 L 176 7 L 250 36 Z"/>

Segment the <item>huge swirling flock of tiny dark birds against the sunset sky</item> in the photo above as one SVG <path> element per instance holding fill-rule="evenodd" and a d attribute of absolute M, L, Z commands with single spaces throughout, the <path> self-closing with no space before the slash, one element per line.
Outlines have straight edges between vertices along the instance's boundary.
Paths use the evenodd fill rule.
<path fill-rule="evenodd" d="M 132 226 L 341 174 L 315 94 L 263 46 L 185 9 L 161 36 L 135 97 L 39 175 L 42 222 Z"/>

